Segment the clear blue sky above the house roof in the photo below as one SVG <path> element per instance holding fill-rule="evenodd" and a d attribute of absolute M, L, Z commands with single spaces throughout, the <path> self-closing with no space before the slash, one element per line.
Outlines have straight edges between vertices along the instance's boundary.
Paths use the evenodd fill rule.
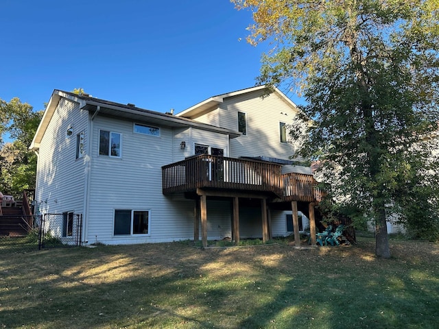
<path fill-rule="evenodd" d="M 0 1 L 0 98 L 43 109 L 54 89 L 180 112 L 254 86 L 268 46 L 228 0 Z M 297 101 L 289 95 L 293 101 Z"/>

